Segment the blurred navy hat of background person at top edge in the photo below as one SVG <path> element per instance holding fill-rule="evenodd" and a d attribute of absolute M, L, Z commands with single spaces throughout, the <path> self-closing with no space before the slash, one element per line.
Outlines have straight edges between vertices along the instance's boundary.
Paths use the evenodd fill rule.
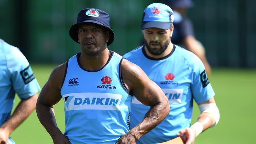
<path fill-rule="evenodd" d="M 167 0 L 166 3 L 173 8 L 190 8 L 194 6 L 192 0 Z"/>

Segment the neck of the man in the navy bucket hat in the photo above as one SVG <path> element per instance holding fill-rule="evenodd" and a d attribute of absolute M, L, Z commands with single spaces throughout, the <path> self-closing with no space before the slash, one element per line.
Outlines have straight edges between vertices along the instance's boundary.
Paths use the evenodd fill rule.
<path fill-rule="evenodd" d="M 109 50 L 106 48 L 99 55 L 89 56 L 81 52 L 79 63 L 85 70 L 96 71 L 100 70 L 109 59 Z"/>

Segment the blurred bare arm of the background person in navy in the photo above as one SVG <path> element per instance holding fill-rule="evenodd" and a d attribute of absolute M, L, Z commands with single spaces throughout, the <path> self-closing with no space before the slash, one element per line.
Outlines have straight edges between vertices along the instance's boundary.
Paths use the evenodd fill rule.
<path fill-rule="evenodd" d="M 187 50 L 189 50 L 190 52 L 193 52 L 195 55 L 197 55 L 200 58 L 200 60 L 204 64 L 205 71 L 206 71 L 208 77 L 210 77 L 211 76 L 211 66 L 209 65 L 209 63 L 206 59 L 206 55 L 205 55 L 204 48 L 203 48 L 202 44 L 200 44 L 200 42 L 198 42 L 195 39 L 195 37 L 192 35 L 188 35 L 184 39 L 184 44 L 185 44 L 185 47 L 187 48 Z"/>

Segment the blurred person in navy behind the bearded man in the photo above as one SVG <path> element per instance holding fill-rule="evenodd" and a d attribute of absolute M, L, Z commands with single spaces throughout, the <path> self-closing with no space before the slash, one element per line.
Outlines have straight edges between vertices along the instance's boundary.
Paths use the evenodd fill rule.
<path fill-rule="evenodd" d="M 194 35 L 193 24 L 186 16 L 187 10 L 194 6 L 192 0 L 164 0 L 164 3 L 170 6 L 174 12 L 174 26 L 172 42 L 179 46 L 184 46 L 187 50 L 196 54 L 203 62 L 208 76 L 211 74 L 211 66 L 205 55 L 204 46 Z"/>

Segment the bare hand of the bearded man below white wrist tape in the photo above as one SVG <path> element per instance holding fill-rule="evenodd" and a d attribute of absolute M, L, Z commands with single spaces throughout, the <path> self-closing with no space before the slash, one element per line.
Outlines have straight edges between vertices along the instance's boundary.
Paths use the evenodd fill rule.
<path fill-rule="evenodd" d="M 182 137 L 186 144 L 193 144 L 196 138 L 196 129 L 193 127 L 186 127 L 177 133 L 177 135 Z"/>

